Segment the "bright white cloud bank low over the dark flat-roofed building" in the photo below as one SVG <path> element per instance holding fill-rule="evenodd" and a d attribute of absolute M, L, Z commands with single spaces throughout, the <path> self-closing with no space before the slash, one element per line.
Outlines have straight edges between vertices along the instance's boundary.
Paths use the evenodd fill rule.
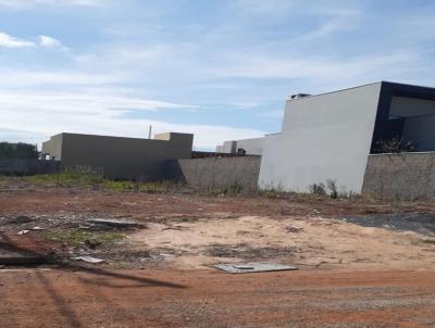
<path fill-rule="evenodd" d="M 130 119 L 123 116 L 129 109 L 157 111 L 187 109 L 190 105 L 134 98 L 115 90 L 86 92 L 0 91 L 0 122 L 7 129 L 54 135 L 62 131 L 146 137 L 149 125 L 154 133 L 195 134 L 195 146 L 213 149 L 223 139 L 259 137 L 264 131 L 213 125 L 173 124 L 152 119 Z M 11 114 L 13 113 L 13 115 Z M 28 119 L 32 117 L 32 119 Z M 23 133 L 23 137 L 25 137 Z M 0 129 L 0 139 L 2 131 Z M 41 142 L 44 140 L 37 140 Z"/>

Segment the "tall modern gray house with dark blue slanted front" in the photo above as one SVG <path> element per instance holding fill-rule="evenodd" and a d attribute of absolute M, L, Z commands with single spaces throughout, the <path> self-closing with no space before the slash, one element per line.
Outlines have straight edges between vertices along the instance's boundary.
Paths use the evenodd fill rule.
<path fill-rule="evenodd" d="M 435 151 L 435 89 L 388 81 L 286 102 L 282 130 L 263 141 L 259 187 L 308 191 L 336 180 L 361 192 L 370 154 L 381 140 Z"/>

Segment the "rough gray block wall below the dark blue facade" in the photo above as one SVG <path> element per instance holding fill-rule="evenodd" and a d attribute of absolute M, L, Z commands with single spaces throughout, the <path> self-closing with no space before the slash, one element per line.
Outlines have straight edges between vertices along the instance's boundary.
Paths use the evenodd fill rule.
<path fill-rule="evenodd" d="M 362 192 L 380 199 L 435 198 L 435 152 L 370 155 Z"/>

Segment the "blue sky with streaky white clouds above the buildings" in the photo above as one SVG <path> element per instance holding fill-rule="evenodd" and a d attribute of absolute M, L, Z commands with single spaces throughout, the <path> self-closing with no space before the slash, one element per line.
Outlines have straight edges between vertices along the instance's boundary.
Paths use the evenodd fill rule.
<path fill-rule="evenodd" d="M 432 0 L 0 0 L 0 140 L 277 133 L 286 99 L 435 87 Z"/>

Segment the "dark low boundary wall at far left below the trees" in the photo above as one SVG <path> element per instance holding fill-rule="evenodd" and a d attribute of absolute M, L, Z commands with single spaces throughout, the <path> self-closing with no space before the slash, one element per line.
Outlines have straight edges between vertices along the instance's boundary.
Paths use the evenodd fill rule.
<path fill-rule="evenodd" d="M 0 159 L 0 174 L 3 175 L 36 175 L 59 172 L 61 162 L 40 160 Z"/>

